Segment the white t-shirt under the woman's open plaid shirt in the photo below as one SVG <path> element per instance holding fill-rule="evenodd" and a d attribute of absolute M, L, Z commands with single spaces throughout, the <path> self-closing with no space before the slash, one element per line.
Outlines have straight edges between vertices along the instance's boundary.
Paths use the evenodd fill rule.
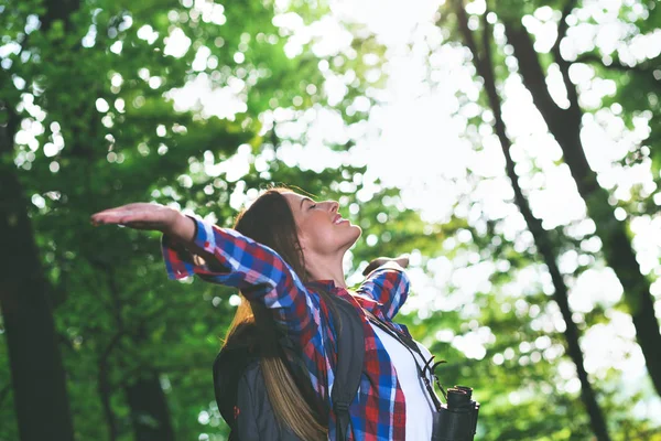
<path fill-rule="evenodd" d="M 369 324 L 375 330 L 386 351 L 388 351 L 407 400 L 407 440 L 430 440 L 432 438 L 434 404 L 429 396 L 422 378 L 418 375 L 418 367 L 415 367 L 415 362 L 413 362 L 413 356 L 411 355 L 413 351 L 409 351 L 407 346 L 379 326 L 371 322 Z M 420 352 L 424 355 L 425 359 L 422 359 L 415 352 L 413 354 L 420 367 L 424 367 L 424 364 L 432 357 L 432 354 L 420 343 L 415 342 L 415 344 L 420 347 Z M 433 381 L 431 375 L 429 375 L 429 378 Z"/>

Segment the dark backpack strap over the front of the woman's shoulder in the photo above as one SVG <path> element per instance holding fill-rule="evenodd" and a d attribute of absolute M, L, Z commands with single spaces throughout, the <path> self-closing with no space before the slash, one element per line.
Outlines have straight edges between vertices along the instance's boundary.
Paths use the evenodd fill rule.
<path fill-rule="evenodd" d="M 337 335 L 337 366 L 330 399 L 335 413 L 336 440 L 344 441 L 349 428 L 349 405 L 360 385 L 365 336 L 362 322 L 356 308 L 340 297 L 332 298 L 337 306 L 340 329 Z"/>

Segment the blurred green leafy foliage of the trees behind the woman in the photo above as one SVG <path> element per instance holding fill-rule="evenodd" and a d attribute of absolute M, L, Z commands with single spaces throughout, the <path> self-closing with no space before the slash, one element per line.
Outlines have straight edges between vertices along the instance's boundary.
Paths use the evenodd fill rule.
<path fill-rule="evenodd" d="M 562 4 L 510 0 L 499 3 L 498 13 L 520 17 L 540 7 Z M 631 21 L 637 32 L 658 28 L 658 8 L 649 10 L 648 20 Z M 557 315 L 549 292 L 542 283 L 512 292 L 525 271 L 544 275 L 534 249 L 516 247 L 498 223 L 469 220 L 467 213 L 443 224 L 426 223 L 403 205 L 397 190 L 378 182 L 359 197 L 357 191 L 367 184 L 365 166 L 311 171 L 280 160 L 282 143 L 304 144 L 306 135 L 279 132 L 280 122 L 269 122 L 277 119 L 274 112 L 286 109 L 288 118 L 296 120 L 310 109 L 324 108 L 340 115 L 346 125 L 360 122 L 367 114 L 349 108 L 356 97 L 371 99 L 370 88 L 383 84 L 382 78 L 366 80 L 366 74 L 380 68 L 384 56 L 373 35 L 353 24 L 347 29 L 354 40 L 344 52 L 318 56 L 310 41 L 290 57 L 290 31 L 273 20 L 284 12 L 314 21 L 328 7 L 303 0 L 291 2 L 286 11 L 270 0 L 0 4 L 0 101 L 6 106 L 0 121 L 18 118 L 22 132 L 14 133 L 13 154 L 2 161 L 13 162 L 31 201 L 28 209 L 56 305 L 77 439 L 110 440 L 110 427 L 117 440 L 134 439 L 127 390 L 144 373 L 155 373 L 160 380 L 176 439 L 225 439 L 210 365 L 235 309 L 232 292 L 223 287 L 167 281 L 158 235 L 93 228 L 89 215 L 127 202 L 156 201 L 230 226 L 238 208 L 235 200 L 282 182 L 318 198 L 339 200 L 365 236 L 373 235 L 351 250 L 351 278 L 373 257 L 409 251 L 416 256 L 411 270 L 432 278 L 438 268 L 457 273 L 479 265 L 491 268 L 489 283 L 470 299 L 457 300 L 460 295 L 451 282 L 435 292 L 431 306 L 399 318 L 448 361 L 440 368 L 444 385 L 476 389 L 483 404 L 478 439 L 589 440 L 578 391 L 565 387 L 559 370 L 567 363 L 562 326 L 548 326 L 540 319 Z M 452 25 L 452 20 L 443 25 Z M 174 56 L 167 39 L 177 34 L 180 44 L 189 46 Z M 365 63 L 366 54 L 378 56 L 376 66 Z M 509 75 L 506 58 L 495 54 L 496 72 L 502 77 Z M 651 112 L 647 149 L 631 154 L 652 158 L 657 178 L 661 119 L 659 101 L 650 94 L 657 96 L 659 82 L 649 72 L 658 68 L 658 57 L 640 69 L 594 66 L 617 83 L 609 99 L 621 105 L 628 125 L 636 115 Z M 329 103 L 323 92 L 330 74 L 348 78 L 339 103 Z M 232 90 L 243 106 L 220 117 L 201 100 L 177 108 L 169 92 L 196 78 L 214 89 Z M 194 94 L 195 88 L 184 90 Z M 201 97 L 205 94 L 210 92 Z M 227 97 L 217 99 L 218 106 L 229 106 L 223 103 Z M 351 140 L 328 147 L 347 151 Z M 249 163 L 239 178 L 232 178 L 232 170 L 218 169 L 236 155 Z M 258 158 L 270 158 L 267 166 Z M 640 213 L 655 209 L 652 195 L 642 203 L 636 205 Z M 480 209 L 472 202 L 459 204 Z M 563 250 L 579 248 L 590 237 L 573 239 L 562 228 L 553 234 Z M 412 299 L 429 298 L 429 287 L 413 289 Z M 597 309 L 581 326 L 605 320 Z M 484 353 L 467 356 L 456 342 L 470 342 L 475 335 L 488 344 Z M 4 345 L 0 361 L 7 361 Z M 8 363 L 0 363 L 0 441 L 14 441 L 19 435 Z M 630 402 L 622 402 L 619 381 L 615 370 L 595 380 L 614 439 L 659 439 L 654 423 L 637 419 Z"/>

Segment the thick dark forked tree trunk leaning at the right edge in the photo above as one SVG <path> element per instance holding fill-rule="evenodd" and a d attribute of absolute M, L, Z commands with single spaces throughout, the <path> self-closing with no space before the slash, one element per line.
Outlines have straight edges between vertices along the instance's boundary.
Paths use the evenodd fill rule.
<path fill-rule="evenodd" d="M 636 327 L 636 338 L 642 349 L 657 394 L 661 395 L 661 351 L 659 349 L 661 333 L 659 320 L 654 314 L 654 299 L 650 292 L 650 282 L 640 272 L 625 223 L 615 218 L 614 208 L 608 203 L 608 192 L 599 186 L 597 175 L 589 168 L 585 157 L 581 141 L 583 109 L 578 104 L 576 86 L 570 79 L 571 63 L 563 60 L 560 54 L 560 42 L 567 28 L 564 18 L 571 12 L 573 6 L 574 1 L 570 1 L 564 10 L 557 41 L 552 50 L 566 87 L 570 100 L 567 109 L 560 108 L 553 101 L 545 85 L 545 73 L 534 51 L 532 37 L 522 24 L 506 22 L 506 35 L 514 49 L 523 84 L 530 90 L 549 131 L 560 144 L 578 193 L 585 201 L 589 216 L 595 220 L 596 233 L 603 243 L 604 258 L 622 284 L 625 303 Z"/>

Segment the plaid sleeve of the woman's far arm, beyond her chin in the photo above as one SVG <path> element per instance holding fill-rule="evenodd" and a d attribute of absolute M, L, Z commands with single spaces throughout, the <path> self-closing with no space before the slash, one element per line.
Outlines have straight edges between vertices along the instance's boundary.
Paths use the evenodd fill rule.
<path fill-rule="evenodd" d="M 357 292 L 381 303 L 381 312 L 392 320 L 409 297 L 409 277 L 398 263 L 388 262 L 370 272 Z"/>

